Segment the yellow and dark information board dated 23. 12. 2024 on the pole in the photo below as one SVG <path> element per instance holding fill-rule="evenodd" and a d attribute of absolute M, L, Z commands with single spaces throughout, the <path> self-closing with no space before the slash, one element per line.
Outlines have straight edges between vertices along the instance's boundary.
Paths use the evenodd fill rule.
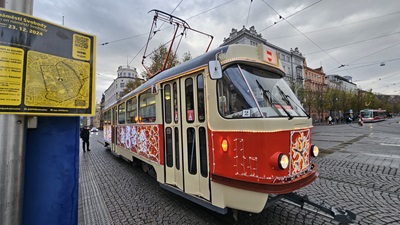
<path fill-rule="evenodd" d="M 0 9 L 0 114 L 89 116 L 96 37 Z"/>

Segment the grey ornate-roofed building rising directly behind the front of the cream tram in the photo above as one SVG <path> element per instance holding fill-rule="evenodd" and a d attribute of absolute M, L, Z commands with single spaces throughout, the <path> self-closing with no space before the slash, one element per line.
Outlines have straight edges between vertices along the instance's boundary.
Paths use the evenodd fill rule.
<path fill-rule="evenodd" d="M 296 92 L 299 88 L 303 87 L 303 62 L 305 61 L 305 57 L 300 53 L 297 47 L 294 50 L 290 49 L 290 51 L 288 51 L 276 45 L 273 45 L 262 38 L 261 34 L 257 33 L 254 26 L 251 26 L 249 29 L 243 26 L 243 28 L 239 31 L 232 28 L 229 37 L 224 38 L 221 46 L 231 44 L 247 44 L 253 46 L 256 46 L 257 44 L 263 44 L 272 49 L 275 49 L 277 51 L 280 64 L 282 65 L 282 69 L 286 73 L 285 80 L 295 91 L 295 94 L 297 94 Z"/>

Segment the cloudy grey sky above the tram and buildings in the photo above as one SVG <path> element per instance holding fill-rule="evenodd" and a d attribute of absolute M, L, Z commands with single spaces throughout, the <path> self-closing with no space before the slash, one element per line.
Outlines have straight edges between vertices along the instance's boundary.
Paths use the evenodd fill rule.
<path fill-rule="evenodd" d="M 232 28 L 254 26 L 269 43 L 298 47 L 307 66 L 351 76 L 363 90 L 400 95 L 400 1 L 398 0 L 34 0 L 33 16 L 95 35 L 96 102 L 117 78 L 119 66 L 144 70 L 142 58 L 156 9 L 214 37 L 217 48 Z M 146 55 L 173 37 L 157 23 Z M 188 31 L 178 58 L 205 52 L 210 38 Z M 149 58 L 145 65 L 149 65 Z"/>

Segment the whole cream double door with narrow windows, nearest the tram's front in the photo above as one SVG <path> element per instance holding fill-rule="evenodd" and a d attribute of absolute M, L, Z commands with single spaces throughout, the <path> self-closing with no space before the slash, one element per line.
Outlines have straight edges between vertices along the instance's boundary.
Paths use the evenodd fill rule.
<path fill-rule="evenodd" d="M 180 78 L 163 90 L 166 183 L 210 200 L 203 75 Z"/>

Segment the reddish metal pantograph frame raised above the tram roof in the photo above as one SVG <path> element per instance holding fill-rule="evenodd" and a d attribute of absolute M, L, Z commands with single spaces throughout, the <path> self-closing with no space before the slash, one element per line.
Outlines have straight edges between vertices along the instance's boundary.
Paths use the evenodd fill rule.
<path fill-rule="evenodd" d="M 173 44 L 174 44 L 175 38 L 176 38 L 178 35 L 181 36 L 180 39 L 179 39 L 178 46 L 176 47 L 176 50 L 175 50 L 175 54 L 176 54 L 176 51 L 177 51 L 177 49 L 178 49 L 178 47 L 179 47 L 179 44 L 180 44 L 180 42 L 181 42 L 181 40 L 182 40 L 182 37 L 183 37 L 183 35 L 186 33 L 187 30 L 192 30 L 192 31 L 195 31 L 195 32 L 197 32 L 197 33 L 200 33 L 200 34 L 203 34 L 203 35 L 206 35 L 206 36 L 210 37 L 211 40 L 210 40 L 210 43 L 209 43 L 208 46 L 207 46 L 206 52 L 207 52 L 208 49 L 210 48 L 211 42 L 213 41 L 213 38 L 214 38 L 212 35 L 203 33 L 203 32 L 198 31 L 198 30 L 195 30 L 195 29 L 191 28 L 191 27 L 189 26 L 189 24 L 188 24 L 186 21 L 184 21 L 183 19 L 178 18 L 178 17 L 176 17 L 176 16 L 173 16 L 173 15 L 171 15 L 171 14 L 165 13 L 165 12 L 163 12 L 163 11 L 153 9 L 153 10 L 150 10 L 149 13 L 150 13 L 150 12 L 154 12 L 153 24 L 151 25 L 151 28 L 150 28 L 149 37 L 147 38 L 147 43 L 146 43 L 146 47 L 145 47 L 145 50 L 144 50 L 144 53 L 143 53 L 143 59 L 142 59 L 142 65 L 143 65 L 143 67 L 145 68 L 145 70 L 146 70 L 147 74 L 149 75 L 149 77 L 153 77 L 154 75 L 160 73 L 161 71 L 163 71 L 163 70 L 165 70 L 165 69 L 167 68 L 168 58 L 169 58 L 169 56 L 170 56 L 170 54 L 171 54 L 171 50 L 172 50 L 172 46 L 173 46 Z M 155 72 L 155 73 L 151 73 L 150 70 L 144 65 L 144 60 L 145 60 L 146 57 L 148 56 L 148 55 L 146 56 L 146 51 L 147 51 L 147 47 L 148 47 L 148 45 L 149 45 L 150 40 L 153 38 L 153 36 L 154 36 L 158 31 L 160 31 L 159 29 L 158 29 L 158 30 L 156 29 L 156 28 L 157 28 L 157 21 L 158 21 L 158 20 L 174 25 L 174 26 L 175 26 L 175 31 L 174 31 L 172 40 L 170 41 L 169 49 L 168 49 L 167 55 L 166 55 L 166 57 L 165 57 L 165 59 L 164 59 L 164 63 L 163 63 L 163 66 L 162 66 L 161 70 L 159 70 L 159 71 L 157 71 L 157 72 Z M 178 30 L 179 30 L 179 29 L 182 29 L 182 32 L 180 32 L 180 33 L 178 34 Z M 165 44 L 165 45 L 166 45 L 166 44 Z M 152 54 L 152 53 L 150 53 L 150 54 Z M 149 55 L 150 55 L 150 54 L 149 54 Z"/>

